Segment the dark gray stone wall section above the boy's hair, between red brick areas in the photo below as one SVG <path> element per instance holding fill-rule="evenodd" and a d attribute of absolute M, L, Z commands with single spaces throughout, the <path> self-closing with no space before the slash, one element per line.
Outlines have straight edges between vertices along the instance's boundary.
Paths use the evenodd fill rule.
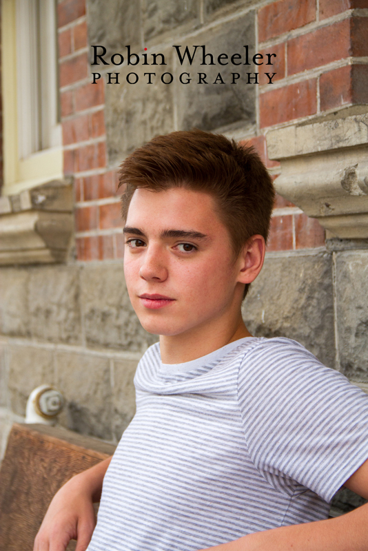
<path fill-rule="evenodd" d="M 177 129 L 197 127 L 233 134 L 241 129 L 242 136 L 252 132 L 256 124 L 256 86 L 248 82 L 247 73 L 254 74 L 262 67 L 253 63 L 244 66 L 244 45 L 249 46 L 248 59 L 252 62 L 256 41 L 256 12 L 252 6 L 258 3 L 145 0 L 140 8 L 139 3 L 127 0 L 88 1 L 89 44 L 103 45 L 107 50 L 103 59 L 110 63 L 103 65 L 99 60 L 99 65 L 92 65 L 92 72 L 103 74 L 106 82 L 107 73 L 119 73 L 119 83 L 105 86 L 111 167 L 152 137 Z M 127 65 L 127 45 L 130 52 L 140 56 L 138 64 Z M 180 46 L 181 56 L 185 48 L 190 54 L 195 52 L 193 61 L 185 58 L 181 63 L 174 45 Z M 203 53 L 214 56 L 214 65 L 210 64 L 209 56 L 203 64 Z M 241 54 L 241 65 L 233 65 L 229 60 L 227 64 L 225 60 L 223 65 L 219 64 L 218 55 L 223 53 Z M 122 65 L 111 62 L 113 54 L 124 57 Z M 143 54 L 147 55 L 147 65 L 142 64 Z M 161 57 L 157 65 L 152 65 L 152 54 L 163 54 L 165 65 L 160 64 Z M 114 61 L 119 63 L 119 58 Z M 148 77 L 148 72 L 154 74 Z M 127 83 L 130 73 L 136 74 L 129 77 L 133 82 L 138 77 L 136 85 Z M 200 73 L 205 74 L 201 83 Z M 241 74 L 236 85 L 232 73 Z M 168 74 L 174 75 L 170 84 L 161 81 L 161 76 L 170 81 Z M 178 81 L 180 74 L 182 82 Z M 151 84 L 146 83 L 149 78 Z"/>

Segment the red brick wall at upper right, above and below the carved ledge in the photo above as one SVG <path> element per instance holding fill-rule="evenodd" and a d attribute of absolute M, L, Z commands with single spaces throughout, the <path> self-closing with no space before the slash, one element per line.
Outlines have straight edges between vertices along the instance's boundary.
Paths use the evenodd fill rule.
<path fill-rule="evenodd" d="M 368 17 L 360 8 L 368 8 L 367 0 L 278 0 L 258 10 L 257 51 L 277 54 L 277 75 L 274 85 L 260 85 L 258 136 L 249 141 L 275 177 L 264 138 L 269 127 L 368 103 Z M 269 251 L 324 242 L 316 220 L 277 198 Z"/>

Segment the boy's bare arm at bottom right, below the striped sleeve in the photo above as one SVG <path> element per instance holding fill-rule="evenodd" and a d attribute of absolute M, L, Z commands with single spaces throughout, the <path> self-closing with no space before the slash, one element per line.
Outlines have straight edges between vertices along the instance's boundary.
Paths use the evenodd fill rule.
<path fill-rule="evenodd" d="M 344 486 L 368 499 L 368 460 Z M 367 551 L 368 503 L 335 519 L 248 534 L 211 551 Z M 209 551 L 202 550 L 202 551 Z"/>

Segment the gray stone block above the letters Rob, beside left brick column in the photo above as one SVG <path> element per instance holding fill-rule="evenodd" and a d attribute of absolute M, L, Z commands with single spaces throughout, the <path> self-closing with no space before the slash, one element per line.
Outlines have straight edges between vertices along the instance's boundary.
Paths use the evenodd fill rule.
<path fill-rule="evenodd" d="M 130 0 L 88 0 L 89 45 L 103 45 L 108 55 L 123 54 L 125 45 L 141 48 L 139 2 Z"/>

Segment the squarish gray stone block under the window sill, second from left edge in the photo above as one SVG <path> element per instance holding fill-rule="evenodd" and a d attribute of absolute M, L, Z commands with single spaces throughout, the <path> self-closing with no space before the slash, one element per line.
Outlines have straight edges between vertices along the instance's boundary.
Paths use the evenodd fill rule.
<path fill-rule="evenodd" d="M 79 344 L 79 268 L 50 266 L 31 269 L 29 281 L 30 332 L 50 342 Z"/>

